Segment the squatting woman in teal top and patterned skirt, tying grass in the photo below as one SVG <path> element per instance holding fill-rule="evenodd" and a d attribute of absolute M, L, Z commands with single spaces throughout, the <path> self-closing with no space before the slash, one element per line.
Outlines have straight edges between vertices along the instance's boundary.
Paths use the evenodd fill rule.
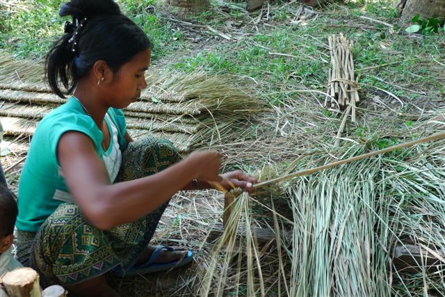
<path fill-rule="evenodd" d="M 122 109 L 147 87 L 152 43 L 113 0 L 72 0 L 65 35 L 47 55 L 54 93 L 74 95 L 33 135 L 19 180 L 17 257 L 82 296 L 117 296 L 104 273 L 133 275 L 191 262 L 181 248 L 149 246 L 172 195 L 220 182 L 250 189 L 241 171 L 218 175 L 220 154 L 181 160 L 170 141 L 133 141 Z M 32 251 L 32 252 L 31 252 Z"/>

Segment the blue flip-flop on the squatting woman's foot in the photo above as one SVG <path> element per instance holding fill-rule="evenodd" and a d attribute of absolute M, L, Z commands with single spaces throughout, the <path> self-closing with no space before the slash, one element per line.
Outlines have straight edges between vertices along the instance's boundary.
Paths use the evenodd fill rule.
<path fill-rule="evenodd" d="M 152 256 L 144 264 L 138 266 L 132 266 L 127 271 L 125 271 L 122 266 L 117 266 L 112 269 L 113 274 L 117 276 L 131 276 L 145 273 L 154 273 L 159 271 L 167 271 L 171 268 L 177 268 L 190 263 L 193 259 L 192 252 L 187 251 L 187 255 L 178 261 L 168 262 L 168 263 L 154 263 L 154 260 L 159 256 L 162 250 L 168 250 L 169 252 L 175 252 L 174 248 L 169 246 L 156 246 L 156 249 L 152 252 Z"/>

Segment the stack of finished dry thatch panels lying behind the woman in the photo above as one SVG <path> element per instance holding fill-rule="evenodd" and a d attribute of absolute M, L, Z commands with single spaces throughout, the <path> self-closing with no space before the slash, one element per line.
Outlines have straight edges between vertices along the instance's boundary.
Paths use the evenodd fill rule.
<path fill-rule="evenodd" d="M 129 134 L 167 138 L 182 153 L 206 147 L 217 139 L 214 134 L 221 134 L 213 126 L 229 129 L 225 120 L 247 122 L 241 109 L 250 109 L 252 115 L 252 110 L 262 108 L 260 100 L 234 83 L 233 78 L 209 77 L 203 72 L 152 73 L 138 102 L 124 109 Z M 234 96 L 239 100 L 233 106 L 223 104 Z M 32 136 L 44 115 L 63 103 L 65 99 L 45 86 L 42 63 L 15 61 L 0 51 L 0 120 L 6 136 Z"/>

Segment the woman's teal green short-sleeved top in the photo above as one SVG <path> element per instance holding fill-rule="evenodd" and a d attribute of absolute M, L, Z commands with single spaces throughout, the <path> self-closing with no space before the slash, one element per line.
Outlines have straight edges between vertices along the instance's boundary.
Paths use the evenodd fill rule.
<path fill-rule="evenodd" d="M 111 119 L 118 129 L 118 143 L 122 151 L 127 147 L 124 113 L 120 109 L 108 109 L 107 113 L 106 121 Z M 108 128 L 110 124 L 107 122 Z M 74 97 L 45 115 L 35 130 L 19 179 L 19 216 L 16 223 L 19 230 L 37 232 L 59 204 L 70 200 L 70 189 L 56 157 L 60 136 L 67 131 L 86 134 L 101 159 L 106 154 L 102 149 L 102 131 Z"/>

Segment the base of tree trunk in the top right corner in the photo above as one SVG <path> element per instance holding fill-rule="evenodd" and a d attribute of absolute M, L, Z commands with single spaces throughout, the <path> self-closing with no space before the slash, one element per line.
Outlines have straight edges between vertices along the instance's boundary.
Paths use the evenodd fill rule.
<path fill-rule="evenodd" d="M 402 11 L 402 22 L 408 24 L 414 15 L 421 19 L 435 18 L 445 20 L 445 0 L 398 0 L 396 7 Z"/>

